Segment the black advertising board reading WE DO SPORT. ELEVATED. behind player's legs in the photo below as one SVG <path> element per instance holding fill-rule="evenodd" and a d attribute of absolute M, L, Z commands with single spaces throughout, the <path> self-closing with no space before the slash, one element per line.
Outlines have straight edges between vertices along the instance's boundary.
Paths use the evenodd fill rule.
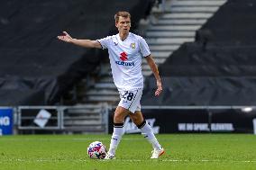
<path fill-rule="evenodd" d="M 109 111 L 109 133 L 113 132 L 114 110 Z M 142 109 L 144 119 L 155 133 L 253 133 L 256 130 L 255 109 L 243 112 L 242 108 L 150 108 Z M 125 133 L 141 133 L 126 118 Z"/>

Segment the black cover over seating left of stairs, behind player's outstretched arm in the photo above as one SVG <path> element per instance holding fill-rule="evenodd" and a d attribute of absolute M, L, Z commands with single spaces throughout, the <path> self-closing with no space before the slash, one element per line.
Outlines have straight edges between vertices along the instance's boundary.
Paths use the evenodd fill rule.
<path fill-rule="evenodd" d="M 129 11 L 133 30 L 151 0 L 0 1 L 0 105 L 59 103 L 59 96 L 107 58 L 105 52 L 59 42 L 115 32 L 114 13 Z"/>

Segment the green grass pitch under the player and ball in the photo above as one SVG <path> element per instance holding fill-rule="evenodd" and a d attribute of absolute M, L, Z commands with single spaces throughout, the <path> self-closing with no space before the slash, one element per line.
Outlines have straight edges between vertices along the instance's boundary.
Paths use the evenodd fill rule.
<path fill-rule="evenodd" d="M 166 154 L 151 160 L 141 135 L 124 135 L 116 159 L 87 157 L 90 142 L 109 146 L 110 135 L 0 137 L 0 169 L 256 169 L 256 136 L 244 134 L 158 135 Z"/>

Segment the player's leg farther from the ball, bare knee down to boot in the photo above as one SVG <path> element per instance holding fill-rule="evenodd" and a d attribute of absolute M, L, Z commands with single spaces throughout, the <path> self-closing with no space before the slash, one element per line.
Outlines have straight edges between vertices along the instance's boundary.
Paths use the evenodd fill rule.
<path fill-rule="evenodd" d="M 128 113 L 133 120 L 134 124 L 142 130 L 142 135 L 144 136 L 145 139 L 147 139 L 152 147 L 152 157 L 151 158 L 158 158 L 162 154 L 164 154 L 164 149 L 160 146 L 160 143 L 158 139 L 156 139 L 153 130 L 151 129 L 151 126 L 147 121 L 143 119 L 142 112 L 141 111 L 136 111 L 134 113 L 129 112 Z"/>

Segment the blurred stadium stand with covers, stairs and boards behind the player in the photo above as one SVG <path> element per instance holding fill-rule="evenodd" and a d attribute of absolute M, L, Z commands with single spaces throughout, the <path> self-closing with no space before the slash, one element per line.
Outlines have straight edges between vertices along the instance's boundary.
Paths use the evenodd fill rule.
<path fill-rule="evenodd" d="M 155 133 L 256 133 L 254 0 L 0 2 L 0 135 L 111 133 L 119 94 L 107 50 L 57 40 L 117 33 L 132 14 L 163 93 L 142 61 L 142 112 Z M 125 132 L 139 130 L 125 119 Z"/>

